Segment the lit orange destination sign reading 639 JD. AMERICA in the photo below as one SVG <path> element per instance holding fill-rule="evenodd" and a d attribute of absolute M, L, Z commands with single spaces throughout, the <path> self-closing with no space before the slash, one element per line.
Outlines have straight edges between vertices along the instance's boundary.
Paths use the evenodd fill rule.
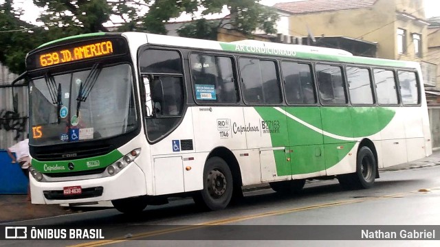
<path fill-rule="evenodd" d="M 28 57 L 28 69 L 41 69 L 69 62 L 126 54 L 124 38 L 87 40 L 37 51 Z"/>

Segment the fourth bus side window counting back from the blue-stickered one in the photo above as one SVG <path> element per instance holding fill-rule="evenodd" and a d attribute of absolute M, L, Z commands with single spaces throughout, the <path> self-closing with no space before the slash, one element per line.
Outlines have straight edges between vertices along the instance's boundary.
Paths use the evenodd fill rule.
<path fill-rule="evenodd" d="M 316 80 L 322 104 L 347 104 L 341 67 L 316 64 Z"/>

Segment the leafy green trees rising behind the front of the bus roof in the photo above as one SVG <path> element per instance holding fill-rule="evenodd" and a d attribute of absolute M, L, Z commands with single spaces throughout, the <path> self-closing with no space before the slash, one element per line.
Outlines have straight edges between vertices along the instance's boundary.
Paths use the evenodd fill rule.
<path fill-rule="evenodd" d="M 25 69 L 25 54 L 42 43 L 57 38 L 91 32 L 145 31 L 166 34 L 165 24 L 181 14 L 203 10 L 202 15 L 221 13 L 224 5 L 231 14 L 221 21 L 200 19 L 182 27 L 181 36 L 216 39 L 217 28 L 228 25 L 234 30 L 250 34 L 256 28 L 274 33 L 276 12 L 255 0 L 33 0 L 44 11 L 37 21 L 43 27 L 21 21 L 20 10 L 14 10 L 11 1 L 0 3 L 0 62 L 14 73 Z M 148 12 L 145 14 L 146 10 Z M 104 23 L 112 23 L 109 30 Z M 15 30 L 15 31 L 14 31 Z M 32 30 L 32 31 L 17 31 Z M 14 31 L 14 32 L 12 32 Z"/>

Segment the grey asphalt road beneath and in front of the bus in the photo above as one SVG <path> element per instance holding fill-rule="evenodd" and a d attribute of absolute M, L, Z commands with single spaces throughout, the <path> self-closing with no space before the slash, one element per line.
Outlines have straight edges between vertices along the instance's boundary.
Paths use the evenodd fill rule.
<path fill-rule="evenodd" d="M 365 190 L 344 191 L 337 180 L 327 180 L 307 183 L 298 195 L 283 196 L 272 189 L 250 191 L 241 202 L 223 211 L 204 212 L 191 199 L 184 199 L 147 207 L 136 217 L 108 209 L 13 222 L 8 225 L 100 228 L 106 239 L 8 240 L 0 246 L 440 246 L 440 241 L 433 240 L 329 241 L 358 239 L 358 228 L 374 230 L 384 225 L 397 225 L 393 226 L 396 231 L 404 228 L 401 225 L 437 225 L 436 238 L 440 239 L 440 167 L 380 175 L 375 187 Z M 292 231 L 292 235 L 285 231 Z"/>

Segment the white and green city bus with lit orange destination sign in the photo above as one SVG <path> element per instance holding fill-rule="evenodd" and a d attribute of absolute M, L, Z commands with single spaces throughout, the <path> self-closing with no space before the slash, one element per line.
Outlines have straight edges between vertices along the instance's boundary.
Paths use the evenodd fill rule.
<path fill-rule="evenodd" d="M 369 188 L 432 153 L 417 62 L 127 32 L 54 40 L 26 64 L 34 204 L 217 210 L 246 185 Z"/>

